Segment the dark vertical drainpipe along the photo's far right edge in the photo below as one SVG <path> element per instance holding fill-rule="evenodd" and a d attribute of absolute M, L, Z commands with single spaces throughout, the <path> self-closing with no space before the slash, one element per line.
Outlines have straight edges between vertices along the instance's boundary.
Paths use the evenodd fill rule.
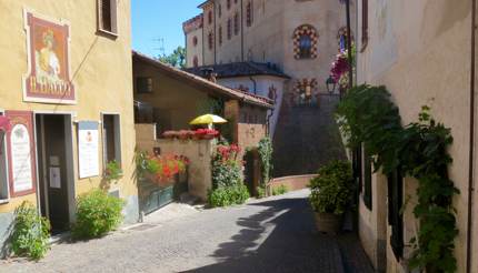
<path fill-rule="evenodd" d="M 474 154 L 475 154 L 475 43 L 476 43 L 476 0 L 471 0 L 471 68 L 470 68 L 470 143 L 469 143 L 469 165 L 468 165 L 468 220 L 467 220 L 467 273 L 471 272 L 472 255 L 472 213 L 474 213 Z"/>

